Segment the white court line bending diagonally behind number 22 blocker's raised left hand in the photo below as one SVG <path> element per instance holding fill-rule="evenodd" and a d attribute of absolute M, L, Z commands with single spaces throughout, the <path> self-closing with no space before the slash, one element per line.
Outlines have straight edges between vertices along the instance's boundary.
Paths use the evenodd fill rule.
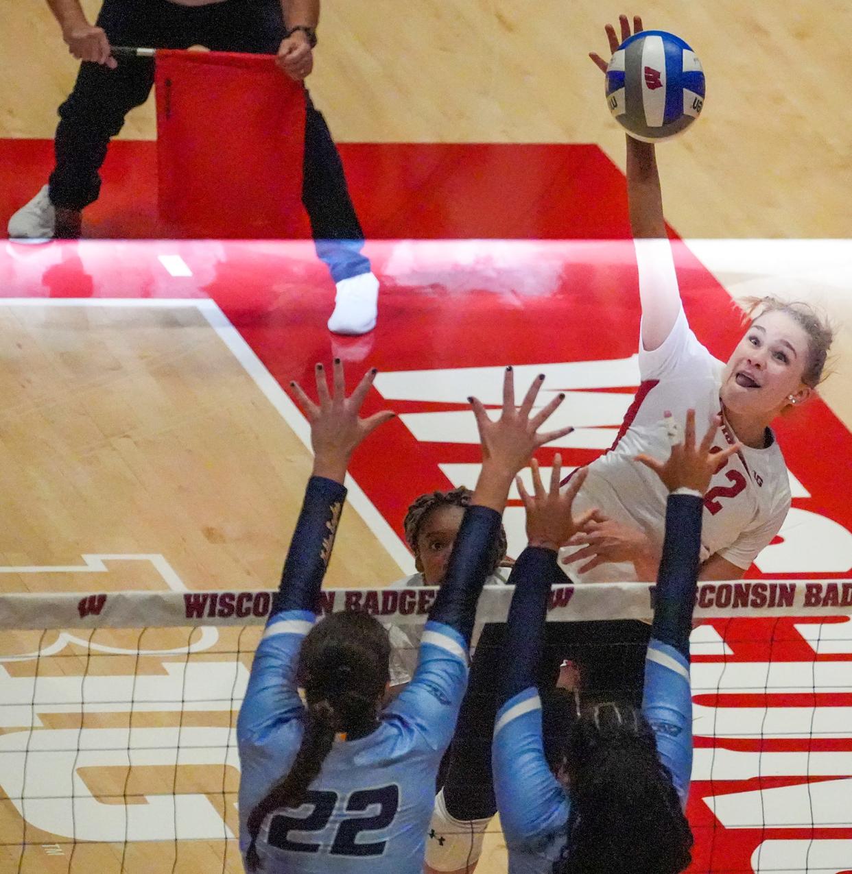
<path fill-rule="evenodd" d="M 281 415 L 282 419 L 295 432 L 299 440 L 302 440 L 304 446 L 311 451 L 311 427 L 308 421 L 304 418 L 296 404 L 290 400 L 287 392 L 278 385 L 276 379 L 266 369 L 261 359 L 255 354 L 255 350 L 246 343 L 240 332 L 234 328 L 225 313 L 215 301 L 210 298 L 120 298 L 120 297 L 85 297 L 85 298 L 69 298 L 69 297 L 5 297 L 0 298 L 0 305 L 9 306 L 59 306 L 59 307 L 116 307 L 124 309 L 169 309 L 173 307 L 194 307 L 198 309 L 202 316 L 206 318 L 210 327 L 220 336 L 222 343 L 225 343 L 228 350 L 234 355 L 237 361 L 240 362 L 243 369 L 251 377 L 255 385 L 260 389 L 262 394 L 269 400 L 269 403 L 275 407 L 276 411 Z M 367 524 L 370 531 L 373 532 L 375 538 L 388 551 L 391 558 L 394 559 L 400 567 L 402 574 L 412 574 L 415 572 L 414 558 L 408 548 L 402 543 L 394 529 L 388 524 L 385 517 L 381 515 L 379 510 L 376 510 L 374 503 L 367 497 L 364 489 L 355 482 L 352 475 L 346 474 L 346 488 L 349 489 L 347 500 L 353 506 L 353 509 Z"/>

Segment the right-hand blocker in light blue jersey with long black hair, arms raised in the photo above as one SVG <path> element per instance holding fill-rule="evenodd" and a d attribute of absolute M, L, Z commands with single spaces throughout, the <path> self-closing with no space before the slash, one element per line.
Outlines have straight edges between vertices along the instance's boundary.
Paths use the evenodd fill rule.
<path fill-rule="evenodd" d="M 715 432 L 711 427 L 696 448 L 690 410 L 683 443 L 671 447 L 665 464 L 639 459 L 668 495 L 641 709 L 618 701 L 578 704 L 561 732 L 551 725 L 548 751 L 535 666 L 556 551 L 573 524 L 570 497 L 559 494 L 559 456 L 549 491 L 535 466 L 534 496 L 519 487 L 529 545 L 513 571 L 492 753 L 509 874 L 678 874 L 689 864 L 693 840 L 683 813 L 692 770 L 689 633 L 702 497 L 737 449 L 712 454 Z"/>

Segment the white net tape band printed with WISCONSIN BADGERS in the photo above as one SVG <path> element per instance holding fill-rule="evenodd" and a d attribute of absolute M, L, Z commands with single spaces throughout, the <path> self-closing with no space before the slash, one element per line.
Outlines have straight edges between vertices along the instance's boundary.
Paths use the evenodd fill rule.
<path fill-rule="evenodd" d="M 650 621 L 653 586 L 554 586 L 550 621 Z M 324 613 L 365 610 L 395 625 L 422 625 L 437 589 L 324 589 Z M 485 586 L 477 620 L 506 620 L 513 586 Z M 262 625 L 274 592 L 14 593 L 0 595 L 0 628 L 185 628 Z M 852 614 L 852 580 L 737 580 L 702 583 L 695 619 Z"/>

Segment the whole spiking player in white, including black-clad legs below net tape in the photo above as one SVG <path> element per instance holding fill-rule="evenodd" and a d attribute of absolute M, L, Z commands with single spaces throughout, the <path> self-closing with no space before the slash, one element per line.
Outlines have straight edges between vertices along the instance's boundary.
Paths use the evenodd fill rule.
<path fill-rule="evenodd" d="M 642 29 L 639 17 L 633 24 L 636 31 Z M 620 25 L 621 40 L 615 28 L 606 25 L 611 52 L 631 35 L 626 16 L 620 17 Z M 591 58 L 605 72 L 606 61 L 596 53 Z M 738 579 L 772 542 L 790 507 L 786 463 L 770 424 L 814 393 L 832 331 L 807 303 L 764 298 L 754 302 L 755 318 L 728 363 L 717 360 L 689 329 L 681 306 L 654 147 L 629 136 L 627 193 L 639 265 L 642 384 L 615 445 L 588 466 L 577 510 L 597 507 L 600 516 L 572 538 L 560 567 L 576 582 L 656 579 L 666 491 L 650 471 L 633 463 L 632 456 L 659 456 L 668 445 L 670 423 L 682 421 L 689 408 L 696 410 L 700 426 L 722 413 L 716 449 L 734 440 L 741 445 L 716 474 L 704 498 L 700 570 L 700 579 Z M 561 650 L 572 659 L 585 658 L 577 647 L 589 650 L 578 642 L 574 624 L 560 623 L 548 631 L 550 655 Z M 588 660 L 578 664 L 583 689 L 618 692 L 639 703 L 648 628 L 639 621 L 599 626 L 595 634 L 604 644 L 597 647 L 601 655 L 594 655 L 594 664 Z M 489 652 L 493 650 L 480 646 L 474 655 L 468 698 L 480 687 L 477 707 L 464 707 L 459 720 L 460 725 L 470 724 L 466 734 L 471 740 L 464 746 L 454 741 L 450 750 L 447 783 L 436 798 L 430 828 L 436 839 L 427 850 L 429 874 L 471 874 L 482 833 L 494 813 L 490 750 L 485 741 L 474 740 L 485 737 L 485 726 L 492 724 L 496 702 L 493 696 L 486 699 L 492 677 L 502 671 L 499 657 Z M 618 685 L 612 682 L 612 666 L 619 669 Z M 479 683 L 477 677 L 485 679 Z"/>

